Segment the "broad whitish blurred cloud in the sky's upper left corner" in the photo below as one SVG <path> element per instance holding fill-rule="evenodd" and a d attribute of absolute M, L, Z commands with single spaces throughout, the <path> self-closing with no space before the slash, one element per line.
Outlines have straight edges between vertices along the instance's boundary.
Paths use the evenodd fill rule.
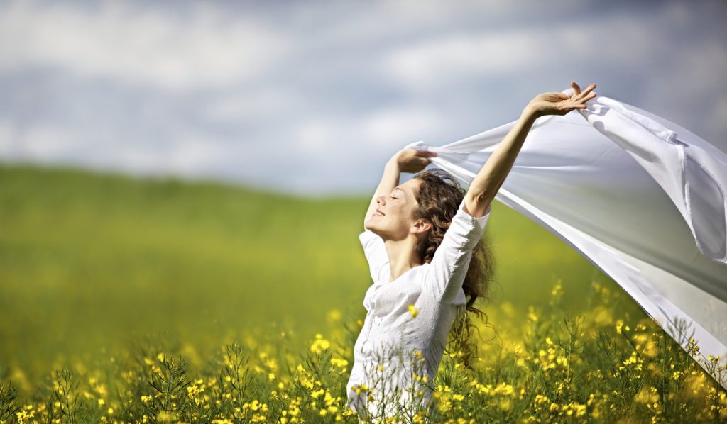
<path fill-rule="evenodd" d="M 0 70 L 55 66 L 164 89 L 249 82 L 291 48 L 284 31 L 196 3 L 188 19 L 137 4 L 17 2 L 0 14 Z"/>

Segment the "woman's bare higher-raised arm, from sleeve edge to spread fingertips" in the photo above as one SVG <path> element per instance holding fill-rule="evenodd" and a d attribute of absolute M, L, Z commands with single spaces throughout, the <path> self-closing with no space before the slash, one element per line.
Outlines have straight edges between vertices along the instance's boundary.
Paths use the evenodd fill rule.
<path fill-rule="evenodd" d="M 467 213 L 474 218 L 484 216 L 487 207 L 505 182 L 505 177 L 510 174 L 515 158 L 537 118 L 543 115 L 565 115 L 571 110 L 585 109 L 585 102 L 595 97 L 595 93 L 590 92 L 595 89 L 595 84 L 591 84 L 583 92 L 573 81 L 571 86 L 575 90 L 571 97 L 563 93 L 543 93 L 528 103 L 518 122 L 498 144 L 497 149 L 492 152 L 467 189 L 465 195 Z"/>

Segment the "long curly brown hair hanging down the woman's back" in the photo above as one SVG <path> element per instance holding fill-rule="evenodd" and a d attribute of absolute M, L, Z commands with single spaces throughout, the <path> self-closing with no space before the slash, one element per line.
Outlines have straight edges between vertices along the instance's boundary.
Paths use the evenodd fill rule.
<path fill-rule="evenodd" d="M 454 179 L 454 176 L 443 169 L 433 168 L 419 172 L 414 178 L 421 180 L 419 189 L 415 194 L 418 208 L 414 211 L 414 219 L 428 219 L 432 229 L 421 242 L 417 243 L 419 256 L 425 263 L 430 263 L 434 253 L 441 244 L 444 233 L 449 229 L 454 215 L 465 199 L 465 190 Z M 478 317 L 484 316 L 485 325 L 488 326 L 487 314 L 475 307 L 478 298 L 489 300 L 489 285 L 494 275 L 494 255 L 488 235 L 475 245 L 472 250 L 472 260 L 467 269 L 465 282 L 462 288 L 467 297 L 467 312 Z M 492 327 L 489 325 L 489 327 Z M 494 329 L 494 327 L 492 327 Z M 450 342 L 461 354 L 462 362 L 471 368 L 471 362 L 477 357 L 477 343 L 471 340 L 475 327 L 469 314 L 464 314 L 450 331 Z M 479 334 L 479 330 L 478 330 Z M 448 343 L 449 344 L 449 343 Z"/>

